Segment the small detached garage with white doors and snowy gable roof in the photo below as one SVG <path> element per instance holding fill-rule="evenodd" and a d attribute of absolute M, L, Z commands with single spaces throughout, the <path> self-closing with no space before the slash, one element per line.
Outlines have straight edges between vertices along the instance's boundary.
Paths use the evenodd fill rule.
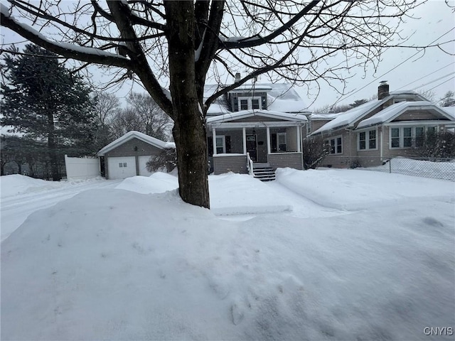
<path fill-rule="evenodd" d="M 155 139 L 139 131 L 129 131 L 98 152 L 104 157 L 105 177 L 124 179 L 134 175 L 149 176 L 146 169 L 149 158 L 164 148 L 175 148 L 172 142 Z"/>

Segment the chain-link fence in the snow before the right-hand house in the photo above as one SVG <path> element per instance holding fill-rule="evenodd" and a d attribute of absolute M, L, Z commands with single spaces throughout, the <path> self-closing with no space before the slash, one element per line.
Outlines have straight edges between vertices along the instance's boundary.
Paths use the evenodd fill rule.
<path fill-rule="evenodd" d="M 381 161 L 380 158 L 370 157 L 330 156 L 323 161 L 321 166 L 400 173 L 455 182 L 455 158 L 396 157 Z"/>

